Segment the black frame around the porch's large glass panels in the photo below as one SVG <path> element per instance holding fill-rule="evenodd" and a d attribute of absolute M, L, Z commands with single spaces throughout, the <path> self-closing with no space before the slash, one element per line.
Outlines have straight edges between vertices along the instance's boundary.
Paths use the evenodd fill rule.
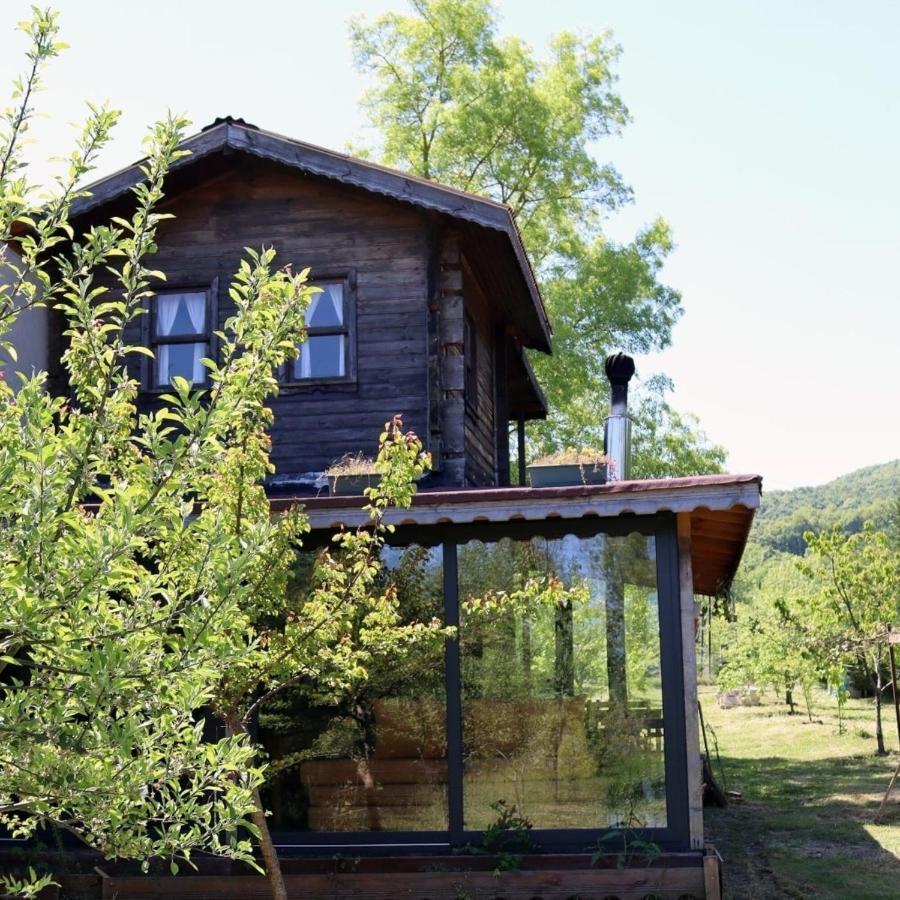
<path fill-rule="evenodd" d="M 681 584 L 675 516 L 662 513 L 649 516 L 622 516 L 602 519 L 515 520 L 504 523 L 399 525 L 387 537 L 392 546 L 442 546 L 444 577 L 444 623 L 459 626 L 459 578 L 457 552 L 470 540 L 497 541 L 500 538 L 527 540 L 532 537 L 563 537 L 574 534 L 611 537 L 638 532 L 652 535 L 656 545 L 657 598 L 659 604 L 659 649 L 662 671 L 663 734 L 666 776 L 666 827 L 644 829 L 566 828 L 534 829 L 531 834 L 541 850 L 585 852 L 603 846 L 611 854 L 620 852 L 636 837 L 652 841 L 665 852 L 691 849 L 688 804 L 688 761 L 684 708 L 684 653 L 681 636 Z M 330 532 L 313 532 L 305 541 L 307 548 L 330 543 Z M 483 831 L 463 828 L 463 738 L 461 657 L 458 639 L 445 644 L 447 697 L 447 831 L 371 831 L 273 833 L 282 850 L 309 854 L 334 853 L 353 848 L 356 853 L 383 854 L 446 851 L 478 845 Z"/>

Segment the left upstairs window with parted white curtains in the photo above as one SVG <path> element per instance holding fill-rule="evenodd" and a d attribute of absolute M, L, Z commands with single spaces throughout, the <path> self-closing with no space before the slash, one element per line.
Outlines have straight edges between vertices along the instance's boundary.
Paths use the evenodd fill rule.
<path fill-rule="evenodd" d="M 166 291 L 153 299 L 153 386 L 165 388 L 176 375 L 193 384 L 206 381 L 209 323 L 206 291 Z"/>

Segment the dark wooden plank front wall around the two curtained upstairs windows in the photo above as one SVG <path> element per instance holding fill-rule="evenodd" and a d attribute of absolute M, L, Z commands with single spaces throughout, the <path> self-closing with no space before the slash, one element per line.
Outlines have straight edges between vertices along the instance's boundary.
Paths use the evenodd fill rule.
<path fill-rule="evenodd" d="M 282 264 L 355 284 L 356 380 L 286 387 L 272 400 L 277 474 L 374 452 L 396 413 L 428 435 L 428 247 L 418 211 L 255 160 L 180 193 L 166 211 L 176 218 L 160 228 L 154 267 L 170 287 L 218 279 L 218 327 L 232 312 L 228 287 L 248 246 L 272 245 Z"/>

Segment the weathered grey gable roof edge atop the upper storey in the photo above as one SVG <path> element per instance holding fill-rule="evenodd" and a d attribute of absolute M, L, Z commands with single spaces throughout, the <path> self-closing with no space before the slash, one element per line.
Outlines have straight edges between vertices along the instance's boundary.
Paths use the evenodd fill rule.
<path fill-rule="evenodd" d="M 419 178 L 406 172 L 390 169 L 345 153 L 326 150 L 314 144 L 265 131 L 231 116 L 216 119 L 199 133 L 186 138 L 180 149 L 189 150 L 173 164 L 173 171 L 224 151 L 239 151 L 261 159 L 272 160 L 298 171 L 339 181 L 342 184 L 382 194 L 402 203 L 443 213 L 454 219 L 470 222 L 507 238 L 508 248 L 521 275 L 521 289 L 529 299 L 526 329 L 528 346 L 550 352 L 550 320 L 535 279 L 534 270 L 525 252 L 522 236 L 504 203 L 487 197 L 469 194 L 456 188 Z M 144 180 L 140 166 L 143 160 L 86 186 L 90 196 L 82 197 L 72 206 L 72 217 L 90 212 L 125 194 Z"/>

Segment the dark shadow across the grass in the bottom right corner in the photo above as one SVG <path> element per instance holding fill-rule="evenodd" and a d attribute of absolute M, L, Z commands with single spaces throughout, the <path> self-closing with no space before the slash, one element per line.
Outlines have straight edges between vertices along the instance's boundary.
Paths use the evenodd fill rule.
<path fill-rule="evenodd" d="M 726 897 L 900 897 L 900 861 L 870 831 L 895 757 L 722 763 L 728 788 L 744 796 L 706 811 L 707 840 L 725 861 Z M 900 796 L 878 824 L 900 825 Z"/>

